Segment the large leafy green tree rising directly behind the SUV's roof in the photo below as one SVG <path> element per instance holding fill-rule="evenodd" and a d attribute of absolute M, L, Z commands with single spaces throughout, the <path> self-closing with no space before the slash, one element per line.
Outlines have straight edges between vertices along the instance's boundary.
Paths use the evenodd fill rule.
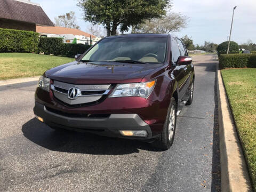
<path fill-rule="evenodd" d="M 137 26 L 147 19 L 161 18 L 172 6 L 170 0 L 78 0 L 84 12 L 84 20 L 102 24 L 107 35 L 116 35 Z"/>

